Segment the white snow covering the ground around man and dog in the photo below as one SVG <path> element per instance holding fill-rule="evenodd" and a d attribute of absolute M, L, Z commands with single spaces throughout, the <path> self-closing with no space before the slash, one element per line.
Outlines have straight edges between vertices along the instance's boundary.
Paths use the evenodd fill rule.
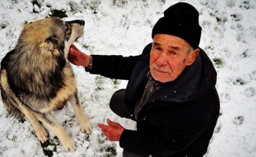
<path fill-rule="evenodd" d="M 256 156 L 255 0 L 116 0 L 115 5 L 111 0 L 38 0 L 38 5 L 33 2 L 0 1 L 0 60 L 16 46 L 23 24 L 51 15 L 52 9 L 65 10 L 68 17 L 64 20 L 86 21 L 84 35 L 75 42 L 83 52 L 130 56 L 140 54 L 152 42 L 152 27 L 170 5 L 194 5 L 203 28 L 199 46 L 218 71 L 221 100 L 221 115 L 205 157 Z M 119 118 L 108 108 L 112 93 L 126 88 L 127 82 L 73 68 L 79 98 L 92 122 L 93 133 L 79 131 L 68 104 L 61 111 L 53 111 L 53 115 L 75 140 L 76 152 L 64 152 L 53 133 L 49 133 L 49 144 L 42 148 L 31 123 L 8 116 L 0 100 L 0 156 L 47 156 L 46 150 L 57 157 L 122 156 L 119 143 L 107 141 L 97 123 L 105 123 L 109 118 L 135 130 L 134 122 Z"/>

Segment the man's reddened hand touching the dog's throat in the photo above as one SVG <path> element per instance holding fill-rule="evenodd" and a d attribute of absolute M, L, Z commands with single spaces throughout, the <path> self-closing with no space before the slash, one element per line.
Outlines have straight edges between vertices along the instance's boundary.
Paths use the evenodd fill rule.
<path fill-rule="evenodd" d="M 89 67 L 90 56 L 82 53 L 75 45 L 71 45 L 68 53 L 68 60 L 77 66 Z"/>

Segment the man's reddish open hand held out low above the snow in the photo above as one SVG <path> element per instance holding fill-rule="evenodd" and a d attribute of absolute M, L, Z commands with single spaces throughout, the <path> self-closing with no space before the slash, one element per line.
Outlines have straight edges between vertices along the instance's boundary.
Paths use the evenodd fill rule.
<path fill-rule="evenodd" d="M 108 141 L 119 141 L 125 129 L 118 122 L 112 122 L 110 119 L 107 119 L 107 122 L 108 125 L 98 124 L 102 133 L 108 138 Z"/>

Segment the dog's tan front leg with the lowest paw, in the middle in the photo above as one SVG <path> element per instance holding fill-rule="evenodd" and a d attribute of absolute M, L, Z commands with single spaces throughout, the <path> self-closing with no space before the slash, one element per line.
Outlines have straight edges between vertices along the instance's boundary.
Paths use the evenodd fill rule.
<path fill-rule="evenodd" d="M 59 122 L 51 115 L 49 112 L 46 113 L 38 113 L 35 115 L 46 127 L 55 134 L 60 143 L 64 146 L 65 151 L 75 151 L 75 141 L 68 136 L 68 133 L 64 130 L 63 126 L 60 125 Z"/>

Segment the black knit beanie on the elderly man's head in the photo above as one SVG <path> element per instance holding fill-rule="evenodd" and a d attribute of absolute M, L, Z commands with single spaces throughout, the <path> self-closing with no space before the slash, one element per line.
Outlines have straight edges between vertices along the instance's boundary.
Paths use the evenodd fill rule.
<path fill-rule="evenodd" d="M 153 27 L 152 38 L 155 34 L 174 35 L 183 38 L 194 49 L 198 48 L 201 37 L 198 11 L 185 2 L 171 5 Z"/>

